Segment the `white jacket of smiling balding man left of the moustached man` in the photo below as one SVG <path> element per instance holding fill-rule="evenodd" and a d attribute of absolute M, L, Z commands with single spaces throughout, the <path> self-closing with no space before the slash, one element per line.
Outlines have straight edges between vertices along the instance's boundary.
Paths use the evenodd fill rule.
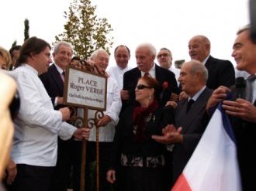
<path fill-rule="evenodd" d="M 116 80 L 119 90 L 123 89 L 123 73 L 125 73 L 126 71 L 128 71 L 130 69 L 132 69 L 132 68 L 129 66 L 122 69 L 116 65 L 115 67 L 110 67 L 109 70 L 107 70 L 107 73 L 109 73 L 109 76 Z"/>

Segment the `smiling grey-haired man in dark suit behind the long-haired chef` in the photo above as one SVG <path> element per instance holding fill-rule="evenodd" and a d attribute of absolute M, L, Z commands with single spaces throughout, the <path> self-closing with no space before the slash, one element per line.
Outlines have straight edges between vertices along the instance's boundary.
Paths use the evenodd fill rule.
<path fill-rule="evenodd" d="M 64 107 L 64 71 L 71 62 L 72 54 L 73 49 L 70 43 L 64 41 L 57 43 L 53 53 L 54 63 L 49 67 L 47 73 L 40 75 L 55 110 Z M 67 141 L 58 138 L 57 165 L 54 169 L 50 190 L 67 190 L 71 171 L 72 144 L 72 138 Z"/>

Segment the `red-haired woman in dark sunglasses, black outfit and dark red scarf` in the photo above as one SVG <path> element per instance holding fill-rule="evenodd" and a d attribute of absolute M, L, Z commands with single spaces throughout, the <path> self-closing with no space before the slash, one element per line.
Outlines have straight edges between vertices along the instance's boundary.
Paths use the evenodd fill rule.
<path fill-rule="evenodd" d="M 135 88 L 137 105 L 127 107 L 120 116 L 112 149 L 113 163 L 107 172 L 107 180 L 116 182 L 117 190 L 169 190 L 164 177 L 166 147 L 151 135 L 161 135 L 162 128 L 173 124 L 174 114 L 172 107 L 162 108 L 157 103 L 158 88 L 157 80 L 141 77 Z"/>

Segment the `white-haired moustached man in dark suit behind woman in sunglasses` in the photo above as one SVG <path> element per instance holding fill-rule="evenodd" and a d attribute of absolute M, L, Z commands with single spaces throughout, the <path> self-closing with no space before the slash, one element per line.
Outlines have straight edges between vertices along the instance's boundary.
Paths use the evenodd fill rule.
<path fill-rule="evenodd" d="M 175 74 L 154 63 L 156 49 L 150 43 L 143 43 L 136 49 L 137 67 L 123 75 L 123 90 L 121 90 L 122 111 L 130 104 L 135 103 L 135 87 L 137 80 L 144 75 L 149 75 L 158 81 L 160 88 L 157 91 L 157 101 L 164 106 L 171 98 L 171 93 L 178 93 Z M 122 112 L 121 111 L 121 112 Z"/>

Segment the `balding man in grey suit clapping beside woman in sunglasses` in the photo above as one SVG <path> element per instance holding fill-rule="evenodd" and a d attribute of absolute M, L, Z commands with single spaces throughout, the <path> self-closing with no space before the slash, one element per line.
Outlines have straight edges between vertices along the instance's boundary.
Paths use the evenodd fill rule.
<path fill-rule="evenodd" d="M 189 97 L 178 102 L 175 126 L 170 124 L 164 129 L 162 136 L 152 137 L 157 142 L 171 144 L 168 149 L 173 148 L 170 169 L 172 183 L 182 173 L 208 124 L 206 104 L 212 90 L 206 87 L 207 78 L 207 69 L 199 61 L 191 60 L 183 64 L 178 81 Z"/>

